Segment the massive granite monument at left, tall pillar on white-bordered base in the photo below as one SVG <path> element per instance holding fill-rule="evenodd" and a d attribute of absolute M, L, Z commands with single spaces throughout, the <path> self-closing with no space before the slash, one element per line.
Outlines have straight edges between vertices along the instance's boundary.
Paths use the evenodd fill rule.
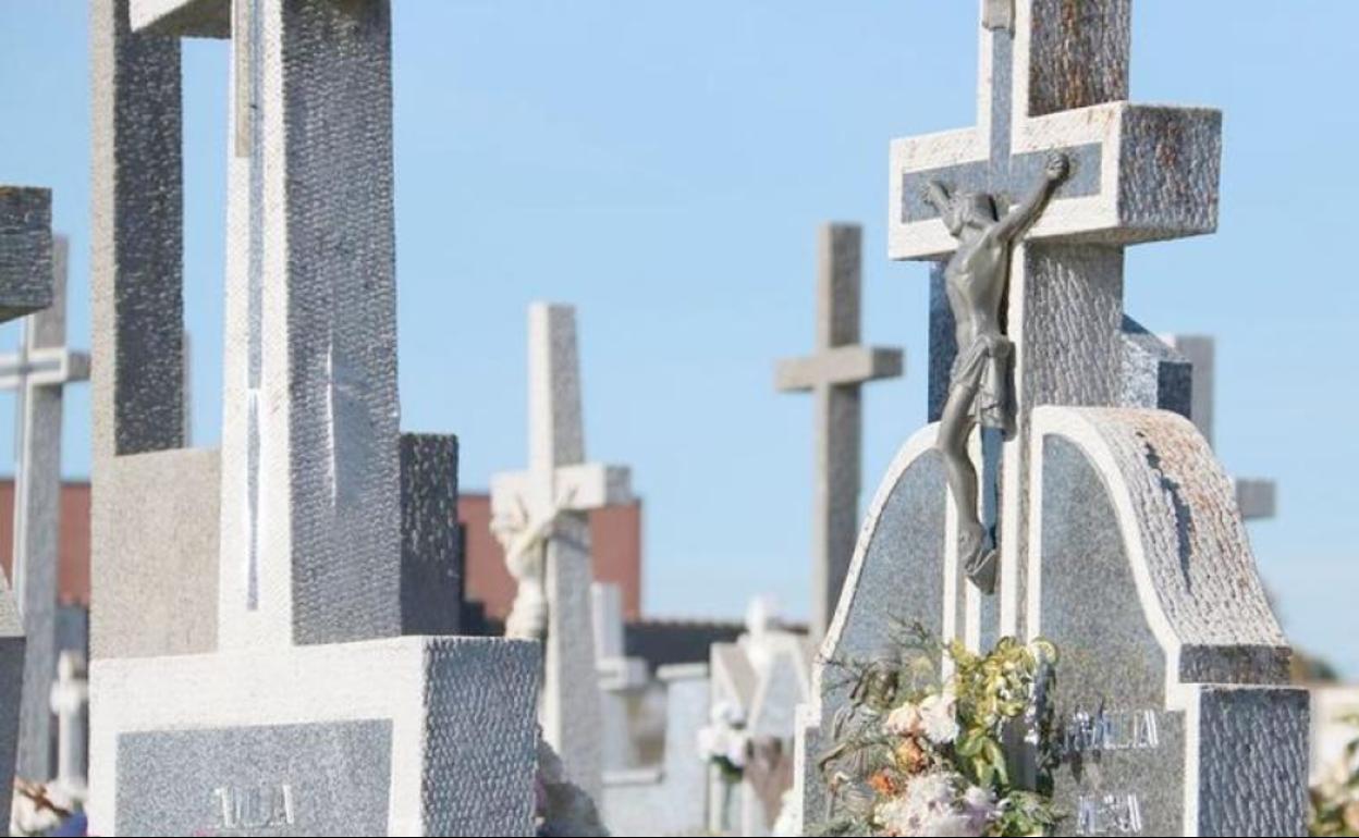
<path fill-rule="evenodd" d="M 132 477 L 171 467 L 136 460 L 183 433 L 179 274 L 162 274 L 179 232 L 175 50 L 179 37 L 204 34 L 196 22 L 211 10 L 228 5 L 135 3 L 129 18 L 122 0 L 94 4 L 95 306 L 106 331 L 95 345 L 95 505 L 107 516 L 120 501 L 99 496 L 128 489 L 164 515 L 139 519 L 154 523 L 147 532 L 117 531 L 124 551 L 98 557 L 117 562 L 96 572 L 98 598 L 102 580 L 148 553 L 186 568 L 192 596 L 208 589 L 198 565 L 173 554 L 209 530 L 194 517 L 202 498 L 166 498 L 179 482 Z M 102 642 L 96 626 L 91 831 L 533 834 L 537 649 L 413 636 L 447 633 L 457 614 L 451 596 L 409 591 L 450 584 L 450 541 L 436 530 L 454 527 L 443 503 L 453 489 L 431 484 L 454 479 L 454 450 L 451 439 L 404 444 L 398 433 L 390 7 L 230 10 L 238 141 L 223 445 L 220 471 L 185 474 L 219 498 L 216 626 L 178 645 L 164 629 Z M 149 168 L 129 170 L 141 158 Z M 435 460 L 414 469 L 424 456 Z M 145 553 L 141 538 L 154 542 Z M 130 607 L 118 592 L 99 608 Z"/>

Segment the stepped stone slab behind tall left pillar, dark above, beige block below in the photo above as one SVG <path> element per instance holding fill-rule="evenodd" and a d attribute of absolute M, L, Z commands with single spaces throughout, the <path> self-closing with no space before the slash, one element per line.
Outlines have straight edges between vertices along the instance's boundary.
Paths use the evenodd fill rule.
<path fill-rule="evenodd" d="M 132 35 L 126 0 L 95 0 L 90 56 L 91 581 L 99 598 L 91 652 L 205 652 L 216 644 L 220 485 L 215 452 L 178 451 L 179 43 Z"/>

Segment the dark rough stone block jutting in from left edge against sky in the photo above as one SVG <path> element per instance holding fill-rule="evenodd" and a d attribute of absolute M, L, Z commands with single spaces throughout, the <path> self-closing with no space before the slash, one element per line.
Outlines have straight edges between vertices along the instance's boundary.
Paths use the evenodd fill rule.
<path fill-rule="evenodd" d="M 0 322 L 52 304 L 52 190 L 0 186 Z"/>

